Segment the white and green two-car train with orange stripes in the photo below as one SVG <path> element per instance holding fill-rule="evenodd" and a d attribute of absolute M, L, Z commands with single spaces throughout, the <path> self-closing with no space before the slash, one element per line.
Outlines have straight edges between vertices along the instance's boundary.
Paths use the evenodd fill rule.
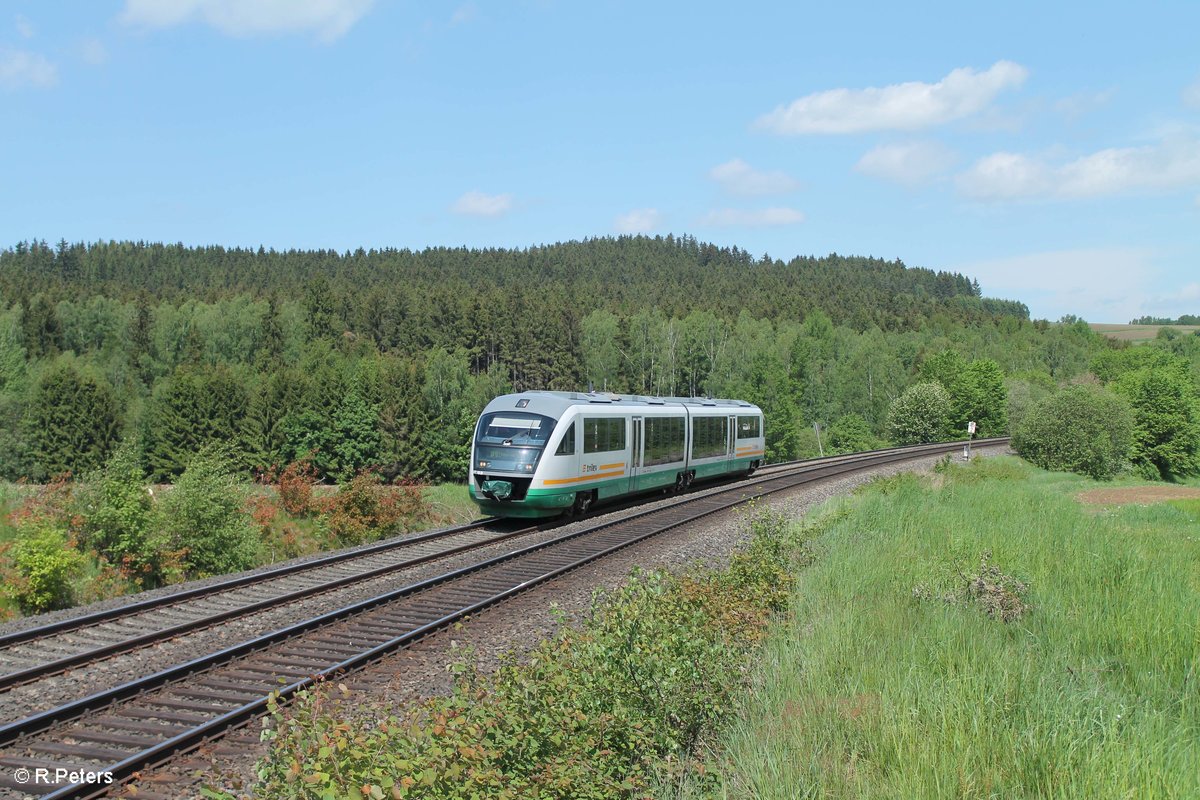
<path fill-rule="evenodd" d="M 528 391 L 475 426 L 468 491 L 485 515 L 556 517 L 762 465 L 762 410 L 707 397 Z"/>

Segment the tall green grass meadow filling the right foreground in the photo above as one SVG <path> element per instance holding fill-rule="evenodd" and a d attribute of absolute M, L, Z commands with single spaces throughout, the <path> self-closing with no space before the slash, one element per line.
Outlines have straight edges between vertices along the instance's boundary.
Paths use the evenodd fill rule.
<path fill-rule="evenodd" d="M 832 506 L 724 796 L 1200 798 L 1200 506 L 1097 486 L 989 459 Z"/>

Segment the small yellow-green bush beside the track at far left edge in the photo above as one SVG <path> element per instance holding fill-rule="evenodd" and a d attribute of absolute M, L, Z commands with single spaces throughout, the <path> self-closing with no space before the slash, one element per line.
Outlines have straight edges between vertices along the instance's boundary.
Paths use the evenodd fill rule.
<path fill-rule="evenodd" d="M 74 604 L 86 559 L 61 530 L 42 523 L 24 527 L 12 545 L 12 564 L 16 575 L 5 581 L 4 591 L 22 612 L 40 614 Z"/>

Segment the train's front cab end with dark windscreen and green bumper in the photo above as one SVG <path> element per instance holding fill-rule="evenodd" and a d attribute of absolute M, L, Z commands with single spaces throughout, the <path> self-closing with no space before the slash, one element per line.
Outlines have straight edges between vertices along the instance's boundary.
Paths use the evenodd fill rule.
<path fill-rule="evenodd" d="M 497 517 L 550 517 L 560 507 L 529 497 L 538 464 L 556 420 L 528 411 L 484 413 L 475 426 L 472 447 L 472 499 L 480 510 Z"/>

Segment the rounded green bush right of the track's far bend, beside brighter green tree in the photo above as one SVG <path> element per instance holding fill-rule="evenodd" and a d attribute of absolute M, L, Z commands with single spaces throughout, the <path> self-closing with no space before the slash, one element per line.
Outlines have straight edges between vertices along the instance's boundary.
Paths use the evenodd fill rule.
<path fill-rule="evenodd" d="M 1043 469 L 1109 480 L 1124 469 L 1133 413 L 1096 386 L 1068 386 L 1034 405 L 1013 431 L 1013 449 Z"/>

